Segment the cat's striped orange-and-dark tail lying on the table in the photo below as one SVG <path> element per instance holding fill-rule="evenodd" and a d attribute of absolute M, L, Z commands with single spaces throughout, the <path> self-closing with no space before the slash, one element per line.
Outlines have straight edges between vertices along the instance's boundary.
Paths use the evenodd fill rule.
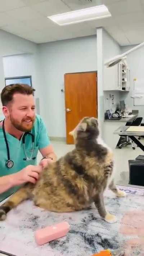
<path fill-rule="evenodd" d="M 22 188 L 20 188 L 13 196 L 11 196 L 8 201 L 0 206 L 0 220 L 6 219 L 6 214 L 17 207 L 19 203 L 31 197 L 33 184 L 27 183 Z"/>

